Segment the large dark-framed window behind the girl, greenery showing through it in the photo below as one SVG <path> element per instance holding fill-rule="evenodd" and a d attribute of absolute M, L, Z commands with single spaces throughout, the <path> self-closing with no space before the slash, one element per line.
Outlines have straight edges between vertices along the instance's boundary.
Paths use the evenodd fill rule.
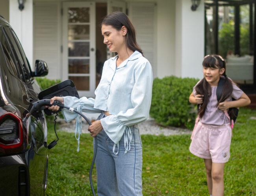
<path fill-rule="evenodd" d="M 254 9 L 252 0 L 205 0 L 205 55 L 223 56 L 227 76 L 242 89 L 253 92 L 256 85 Z"/>

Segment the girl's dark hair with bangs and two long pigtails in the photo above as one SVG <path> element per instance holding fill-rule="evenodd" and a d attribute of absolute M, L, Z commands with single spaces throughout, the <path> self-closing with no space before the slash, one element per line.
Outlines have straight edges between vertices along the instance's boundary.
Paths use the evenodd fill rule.
<path fill-rule="evenodd" d="M 221 56 L 212 54 L 204 57 L 204 61 L 202 62 L 202 65 L 203 67 L 213 67 L 213 68 L 218 68 L 219 70 L 222 68 L 225 69 L 224 73 L 222 74 L 222 76 L 224 76 L 224 86 L 221 91 L 221 98 L 216 105 L 217 107 L 219 103 L 224 102 L 224 100 L 230 97 L 233 91 L 232 81 L 226 76 L 226 62 Z M 204 116 L 206 106 L 211 96 L 211 85 L 206 81 L 205 78 L 203 78 L 195 87 L 195 90 L 197 91 L 197 94 L 204 95 L 203 103 L 200 105 L 200 109 L 198 110 L 198 115 L 200 118 L 202 118 Z"/>

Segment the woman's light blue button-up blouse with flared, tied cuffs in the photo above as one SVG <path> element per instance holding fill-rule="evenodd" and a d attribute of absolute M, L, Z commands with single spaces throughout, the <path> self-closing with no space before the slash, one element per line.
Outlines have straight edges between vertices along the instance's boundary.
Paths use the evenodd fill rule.
<path fill-rule="evenodd" d="M 128 135 L 128 138 L 125 138 L 124 143 L 127 147 L 127 141 L 131 140 L 129 126 L 143 122 L 149 116 L 153 74 L 150 63 L 138 51 L 119 67 L 116 67 L 117 57 L 118 55 L 104 63 L 95 99 L 66 96 L 64 105 L 85 113 L 108 111 L 112 115 L 100 120 L 104 131 L 117 146 L 126 132 L 125 136 Z M 77 116 L 68 109 L 63 109 L 63 115 L 67 122 Z"/>

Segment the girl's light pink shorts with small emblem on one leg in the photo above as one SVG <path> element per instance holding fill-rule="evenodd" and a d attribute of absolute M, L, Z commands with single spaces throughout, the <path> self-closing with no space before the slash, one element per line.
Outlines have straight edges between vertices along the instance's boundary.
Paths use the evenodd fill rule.
<path fill-rule="evenodd" d="M 189 151 L 213 163 L 226 163 L 230 158 L 231 136 L 229 124 L 218 126 L 198 122 Z"/>

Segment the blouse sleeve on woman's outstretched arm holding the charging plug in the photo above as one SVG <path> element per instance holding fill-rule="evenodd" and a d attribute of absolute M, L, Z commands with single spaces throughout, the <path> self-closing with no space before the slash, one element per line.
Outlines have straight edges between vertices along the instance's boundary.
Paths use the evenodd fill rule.
<path fill-rule="evenodd" d="M 86 97 L 82 97 L 78 99 L 77 97 L 73 96 L 65 96 L 64 98 L 64 105 L 67 107 L 72 107 L 78 110 L 78 107 L 82 107 L 82 111 L 85 113 L 101 113 L 102 111 L 99 109 L 94 108 L 95 99 Z M 70 112 L 68 109 L 62 110 L 63 116 L 67 122 L 75 119 L 77 114 Z"/>

